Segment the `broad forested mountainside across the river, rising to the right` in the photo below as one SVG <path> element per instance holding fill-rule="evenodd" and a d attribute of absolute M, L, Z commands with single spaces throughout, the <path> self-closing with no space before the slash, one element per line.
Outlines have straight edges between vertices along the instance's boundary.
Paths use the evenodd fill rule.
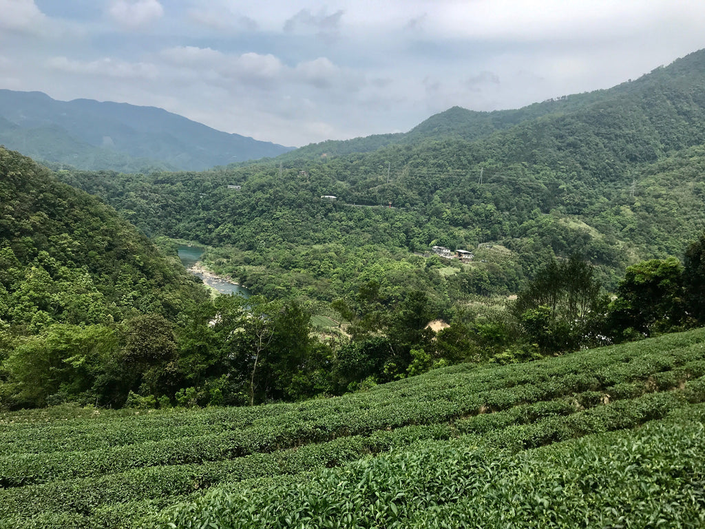
<path fill-rule="evenodd" d="M 517 111 L 450 109 L 406 135 L 271 162 L 61 178 L 145 233 L 219 248 L 212 264 L 261 293 L 330 301 L 360 281 L 396 282 L 403 267 L 410 283 L 450 301 L 506 295 L 572 253 L 611 290 L 628 265 L 680 256 L 705 228 L 704 87 L 697 52 L 611 90 Z M 413 253 L 432 245 L 480 258 L 428 274 L 443 267 Z"/>

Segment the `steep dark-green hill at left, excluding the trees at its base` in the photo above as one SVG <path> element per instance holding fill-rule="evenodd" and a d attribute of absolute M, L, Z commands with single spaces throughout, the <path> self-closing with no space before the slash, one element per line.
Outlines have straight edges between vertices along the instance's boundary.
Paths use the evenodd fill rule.
<path fill-rule="evenodd" d="M 173 318 L 201 299 L 192 276 L 114 209 L 0 147 L 0 332 Z"/>

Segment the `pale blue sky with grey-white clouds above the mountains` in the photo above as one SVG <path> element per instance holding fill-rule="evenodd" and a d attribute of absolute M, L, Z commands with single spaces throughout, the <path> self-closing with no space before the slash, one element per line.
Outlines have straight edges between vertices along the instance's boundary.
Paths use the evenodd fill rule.
<path fill-rule="evenodd" d="M 608 88 L 703 28 L 702 0 L 0 0 L 0 88 L 300 147 Z"/>

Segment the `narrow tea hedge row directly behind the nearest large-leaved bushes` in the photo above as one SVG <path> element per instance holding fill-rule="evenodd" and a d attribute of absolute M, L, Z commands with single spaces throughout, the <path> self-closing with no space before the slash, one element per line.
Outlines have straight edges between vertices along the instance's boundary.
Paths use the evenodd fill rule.
<path fill-rule="evenodd" d="M 410 449 L 419 442 L 474 446 L 486 451 L 522 451 L 587 434 L 642 425 L 665 417 L 669 411 L 682 408 L 688 401 L 705 401 L 705 379 L 689 383 L 678 391 L 647 394 L 639 399 L 596 406 L 572 415 L 547 417 L 531 424 L 491 430 L 484 435 L 468 434 L 453 439 L 449 425 L 406 427 L 377 432 L 370 437 L 345 437 L 274 454 L 253 454 L 234 461 L 153 467 L 94 479 L 18 487 L 0 492 L 0 518 L 36 518 L 42 513 L 61 511 L 85 516 L 101 506 L 164 497 L 178 499 L 214 485 L 338 466 L 390 449 Z M 129 513 L 124 514 L 129 518 Z"/>

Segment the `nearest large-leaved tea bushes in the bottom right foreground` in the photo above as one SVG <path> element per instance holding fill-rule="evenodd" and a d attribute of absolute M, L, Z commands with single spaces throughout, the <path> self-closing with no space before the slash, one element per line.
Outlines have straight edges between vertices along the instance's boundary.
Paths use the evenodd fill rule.
<path fill-rule="evenodd" d="M 426 444 L 322 470 L 313 480 L 216 490 L 166 511 L 161 527 L 575 527 L 701 525 L 702 408 L 682 424 L 592 436 L 520 454 Z"/>

